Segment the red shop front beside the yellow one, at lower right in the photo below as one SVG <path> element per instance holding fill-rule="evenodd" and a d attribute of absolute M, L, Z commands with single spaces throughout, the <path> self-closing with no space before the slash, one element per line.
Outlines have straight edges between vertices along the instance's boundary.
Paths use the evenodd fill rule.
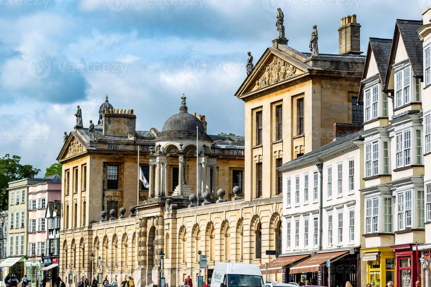
<path fill-rule="evenodd" d="M 395 251 L 395 272 L 397 273 L 397 287 L 415 287 L 418 277 L 418 258 L 416 250 L 413 251 L 414 244 L 403 244 L 391 246 Z"/>

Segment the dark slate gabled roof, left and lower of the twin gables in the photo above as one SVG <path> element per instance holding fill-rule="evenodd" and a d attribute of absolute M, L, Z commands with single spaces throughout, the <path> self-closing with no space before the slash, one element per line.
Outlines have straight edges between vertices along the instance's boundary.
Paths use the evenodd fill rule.
<path fill-rule="evenodd" d="M 368 72 L 368 67 L 370 64 L 371 53 L 372 53 L 377 64 L 380 81 L 384 84 L 384 80 L 386 79 L 387 62 L 389 61 L 391 45 L 392 45 L 392 39 L 370 37 L 370 40 L 368 42 L 367 55 L 365 58 L 364 71 L 362 72 L 362 80 L 365 80 L 367 76 L 368 77 L 370 76 L 370 75 L 367 75 L 367 72 Z M 363 100 L 362 89 L 363 89 L 363 84 L 361 83 L 361 87 L 359 88 L 358 102 L 362 102 Z"/>

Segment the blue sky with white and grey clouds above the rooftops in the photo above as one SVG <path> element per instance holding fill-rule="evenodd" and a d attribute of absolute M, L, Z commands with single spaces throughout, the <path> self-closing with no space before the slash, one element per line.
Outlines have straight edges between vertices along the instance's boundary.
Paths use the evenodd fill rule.
<path fill-rule="evenodd" d="M 234 93 L 278 36 L 289 45 L 338 52 L 340 18 L 356 14 L 361 50 L 391 38 L 395 19 L 421 19 L 431 0 L 0 0 L 0 156 L 42 169 L 54 163 L 64 131 L 98 119 L 105 95 L 134 109 L 137 129 L 161 130 L 187 96 L 208 132 L 244 135 L 244 103 Z M 201 69 L 196 70 L 199 67 Z M 191 68 L 194 68 L 192 71 Z M 197 72 L 198 71 L 198 72 Z"/>

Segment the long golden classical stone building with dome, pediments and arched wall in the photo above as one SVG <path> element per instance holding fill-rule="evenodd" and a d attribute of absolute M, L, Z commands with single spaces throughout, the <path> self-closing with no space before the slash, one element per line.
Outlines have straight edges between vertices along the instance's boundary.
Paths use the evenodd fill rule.
<path fill-rule="evenodd" d="M 235 95 L 245 102 L 245 138 L 208 135 L 205 116 L 189 114 L 185 98 L 161 132 L 136 131 L 133 110 L 107 101 L 94 132 L 77 123 L 58 157 L 61 276 L 71 272 L 76 284 L 92 270 L 157 284 L 162 250 L 162 276 L 176 286 L 187 274 L 196 281 L 199 250 L 208 256 L 208 281 L 215 262 L 261 265 L 275 257 L 265 251 L 280 255 L 283 182 L 276 168 L 330 142 L 335 122 L 362 123 L 356 100 L 365 57 L 357 55 L 359 24 L 351 29 L 356 16 L 348 20 L 340 45 L 351 48 L 343 55 L 311 56 L 287 39 L 273 41 Z M 138 145 L 148 188 L 137 185 Z"/>

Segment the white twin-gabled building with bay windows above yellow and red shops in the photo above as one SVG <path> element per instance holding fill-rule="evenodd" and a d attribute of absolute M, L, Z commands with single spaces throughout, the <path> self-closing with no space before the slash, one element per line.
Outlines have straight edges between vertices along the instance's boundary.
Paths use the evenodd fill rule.
<path fill-rule="evenodd" d="M 397 20 L 392 40 L 370 38 L 362 76 L 362 252 L 373 287 L 415 286 L 412 247 L 425 242 L 421 27 Z"/>

